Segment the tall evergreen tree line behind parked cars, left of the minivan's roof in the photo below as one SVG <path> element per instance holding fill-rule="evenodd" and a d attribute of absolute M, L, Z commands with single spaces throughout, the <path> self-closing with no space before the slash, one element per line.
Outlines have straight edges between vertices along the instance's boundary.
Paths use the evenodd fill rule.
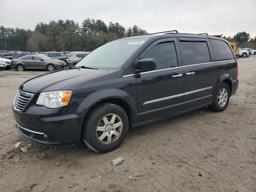
<path fill-rule="evenodd" d="M 80 26 L 74 20 L 38 23 L 34 30 L 0 26 L 0 50 L 92 51 L 119 38 L 148 34 L 137 25 L 124 28 L 120 23 L 86 19 Z"/>

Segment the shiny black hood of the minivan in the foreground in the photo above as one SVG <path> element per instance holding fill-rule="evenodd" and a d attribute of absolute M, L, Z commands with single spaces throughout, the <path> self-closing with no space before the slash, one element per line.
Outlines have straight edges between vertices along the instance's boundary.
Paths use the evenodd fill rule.
<path fill-rule="evenodd" d="M 71 84 L 107 73 L 108 70 L 69 68 L 36 76 L 20 86 L 20 90 L 30 93 L 56 91 Z"/>

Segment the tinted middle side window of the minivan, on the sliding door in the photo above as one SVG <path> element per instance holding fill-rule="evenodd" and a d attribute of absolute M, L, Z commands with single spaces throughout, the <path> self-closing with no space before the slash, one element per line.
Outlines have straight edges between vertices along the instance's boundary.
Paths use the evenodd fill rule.
<path fill-rule="evenodd" d="M 210 53 L 206 42 L 180 42 L 182 65 L 210 62 Z"/>

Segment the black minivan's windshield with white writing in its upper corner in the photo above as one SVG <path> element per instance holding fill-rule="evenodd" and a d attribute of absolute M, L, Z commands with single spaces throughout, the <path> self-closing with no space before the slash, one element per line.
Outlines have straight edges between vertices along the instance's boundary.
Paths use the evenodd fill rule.
<path fill-rule="evenodd" d="M 109 42 L 84 57 L 76 67 L 114 70 L 120 68 L 149 38 L 122 39 Z"/>

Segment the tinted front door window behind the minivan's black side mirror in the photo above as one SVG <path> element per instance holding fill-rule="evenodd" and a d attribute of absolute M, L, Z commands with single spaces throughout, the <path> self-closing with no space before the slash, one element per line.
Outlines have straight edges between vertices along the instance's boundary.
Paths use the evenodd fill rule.
<path fill-rule="evenodd" d="M 177 54 L 174 42 L 164 42 L 151 48 L 142 58 L 156 60 L 156 70 L 177 67 Z"/>

